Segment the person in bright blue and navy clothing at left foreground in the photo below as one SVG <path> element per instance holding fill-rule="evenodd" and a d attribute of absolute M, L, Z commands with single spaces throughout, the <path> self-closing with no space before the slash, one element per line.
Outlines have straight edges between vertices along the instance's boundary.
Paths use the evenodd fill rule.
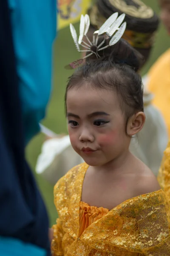
<path fill-rule="evenodd" d="M 48 215 L 25 146 L 51 92 L 56 0 L 0 0 L 0 255 L 50 255 Z"/>

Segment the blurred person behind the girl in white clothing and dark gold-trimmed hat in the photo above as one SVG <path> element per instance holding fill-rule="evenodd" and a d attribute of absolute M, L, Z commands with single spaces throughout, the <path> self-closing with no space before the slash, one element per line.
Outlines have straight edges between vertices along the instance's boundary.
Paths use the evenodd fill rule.
<path fill-rule="evenodd" d="M 128 0 L 98 0 L 88 11 L 91 19 L 88 32 L 90 40 L 94 31 L 99 29 L 114 12 L 119 12 L 119 14 L 125 12 L 127 29 L 123 38 L 144 56 L 145 63 L 153 48 L 159 18 L 150 7 L 142 2 L 137 4 L 136 1 Z M 145 79 L 146 77 L 143 78 L 144 84 Z M 143 99 L 146 122 L 137 140 L 133 138 L 130 151 L 157 175 L 168 141 L 167 130 L 161 114 L 151 104 L 153 95 L 144 90 Z M 51 136 L 51 139 L 46 140 L 42 145 L 36 172 L 54 185 L 69 169 L 82 162 L 82 158 L 72 148 L 68 135 Z"/>

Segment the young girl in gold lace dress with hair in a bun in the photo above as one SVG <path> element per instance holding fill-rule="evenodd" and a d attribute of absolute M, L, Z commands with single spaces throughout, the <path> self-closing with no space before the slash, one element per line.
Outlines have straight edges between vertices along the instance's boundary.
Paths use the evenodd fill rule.
<path fill-rule="evenodd" d="M 54 187 L 55 256 L 170 255 L 166 197 L 129 151 L 145 120 L 140 56 L 122 40 L 112 48 L 91 55 L 66 88 L 71 145 L 85 163 Z"/>

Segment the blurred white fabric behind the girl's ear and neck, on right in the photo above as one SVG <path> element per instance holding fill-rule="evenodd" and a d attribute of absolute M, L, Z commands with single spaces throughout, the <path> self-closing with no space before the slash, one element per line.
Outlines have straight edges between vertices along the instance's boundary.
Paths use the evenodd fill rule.
<path fill-rule="evenodd" d="M 144 96 L 144 104 L 150 102 L 151 94 Z M 146 121 L 142 131 L 130 143 L 130 151 L 142 160 L 157 176 L 163 152 L 168 143 L 167 128 L 161 113 L 147 105 L 144 108 Z"/>

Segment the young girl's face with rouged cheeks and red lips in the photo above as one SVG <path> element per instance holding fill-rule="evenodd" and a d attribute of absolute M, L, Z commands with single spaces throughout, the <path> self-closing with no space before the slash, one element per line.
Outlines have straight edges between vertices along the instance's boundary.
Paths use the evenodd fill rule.
<path fill-rule="evenodd" d="M 116 93 L 90 85 L 67 93 L 68 132 L 74 150 L 90 166 L 102 166 L 128 151 L 130 137 Z"/>

